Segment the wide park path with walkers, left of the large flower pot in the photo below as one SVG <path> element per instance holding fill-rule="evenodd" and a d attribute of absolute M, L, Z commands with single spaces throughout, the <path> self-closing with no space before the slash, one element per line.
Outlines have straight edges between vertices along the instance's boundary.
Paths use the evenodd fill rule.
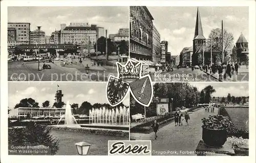
<path fill-rule="evenodd" d="M 185 126 L 184 122 L 183 126 L 175 127 L 175 123 L 172 122 L 159 129 L 156 140 L 154 132 L 150 134 L 131 133 L 131 139 L 151 140 L 152 155 L 184 155 L 180 151 L 195 151 L 199 141 L 202 139 L 201 119 L 217 113 L 218 109 L 215 109 L 215 112 L 212 113 L 205 112 L 204 108 L 200 108 L 189 114 L 189 126 Z M 177 151 L 177 154 L 173 153 L 173 151 Z"/>

